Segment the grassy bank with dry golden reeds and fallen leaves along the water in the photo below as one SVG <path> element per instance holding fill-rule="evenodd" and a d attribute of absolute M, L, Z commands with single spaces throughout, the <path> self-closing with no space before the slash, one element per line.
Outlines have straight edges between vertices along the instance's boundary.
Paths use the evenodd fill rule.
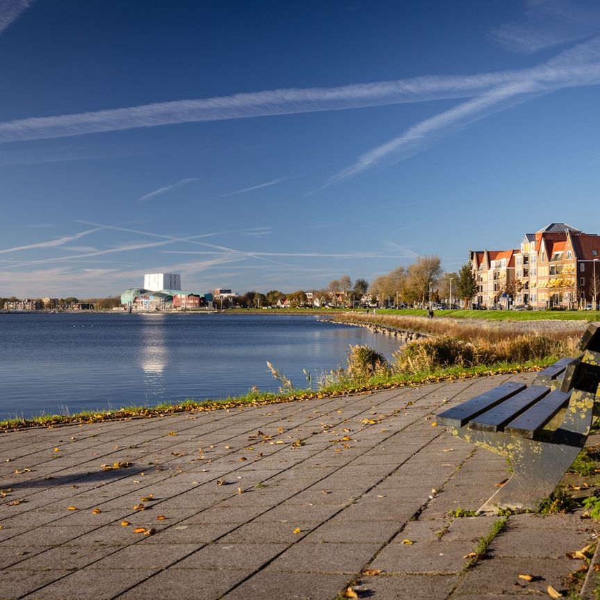
<path fill-rule="evenodd" d="M 467 311 L 469 312 L 469 311 Z M 481 311 L 485 312 L 485 311 Z M 481 314 L 481 313 L 478 313 Z M 534 315 L 535 313 L 515 313 Z M 474 315 L 470 312 L 469 316 Z M 574 352 L 579 334 L 567 331 L 553 335 L 515 335 L 514 332 L 487 330 L 476 324 L 461 324 L 454 319 L 425 319 L 418 315 L 377 314 L 340 315 L 340 319 L 366 319 L 369 322 L 385 320 L 386 324 L 411 331 L 426 331 L 435 337 L 410 342 L 395 353 L 388 362 L 366 347 L 351 347 L 348 364 L 344 369 L 323 372 L 318 381 L 308 388 L 294 387 L 279 374 L 279 392 L 251 391 L 240 397 L 206 401 L 188 400 L 183 403 L 163 403 L 160 406 L 129 406 L 118 410 L 81 412 L 76 415 L 40 415 L 31 419 L 8 419 L 0 422 L 0 430 L 28 426 L 55 426 L 65 423 L 90 423 L 110 419 L 129 419 L 172 414 L 174 412 L 210 411 L 242 406 L 261 406 L 340 394 L 370 392 L 390 387 L 419 385 L 457 378 L 537 371 L 560 356 Z"/>

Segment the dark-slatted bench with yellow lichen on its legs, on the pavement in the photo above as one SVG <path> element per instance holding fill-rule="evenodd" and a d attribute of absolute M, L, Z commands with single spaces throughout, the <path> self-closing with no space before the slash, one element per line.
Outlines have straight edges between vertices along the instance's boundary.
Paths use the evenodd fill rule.
<path fill-rule="evenodd" d="M 509 381 L 437 415 L 452 435 L 510 461 L 512 476 L 480 510 L 537 510 L 583 448 L 600 383 L 600 323 L 578 349 L 530 386 Z"/>

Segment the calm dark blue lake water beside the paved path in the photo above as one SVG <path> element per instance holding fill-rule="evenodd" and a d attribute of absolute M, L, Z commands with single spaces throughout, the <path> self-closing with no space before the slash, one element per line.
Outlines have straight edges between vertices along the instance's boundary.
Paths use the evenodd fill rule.
<path fill-rule="evenodd" d="M 351 344 L 399 347 L 314 315 L 0 314 L 0 419 L 275 391 L 267 360 L 308 387 Z"/>

